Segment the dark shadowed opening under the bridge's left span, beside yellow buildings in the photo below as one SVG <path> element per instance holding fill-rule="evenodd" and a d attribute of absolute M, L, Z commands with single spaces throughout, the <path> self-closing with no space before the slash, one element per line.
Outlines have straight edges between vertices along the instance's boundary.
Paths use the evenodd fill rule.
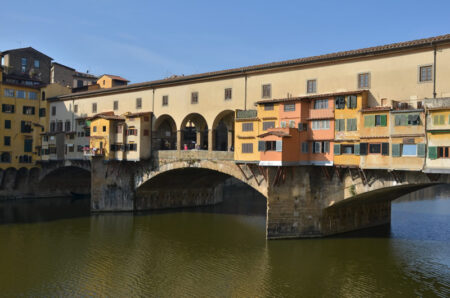
<path fill-rule="evenodd" d="M 37 192 L 40 196 L 89 195 L 91 191 L 91 172 L 79 167 L 58 168 L 39 182 Z"/>

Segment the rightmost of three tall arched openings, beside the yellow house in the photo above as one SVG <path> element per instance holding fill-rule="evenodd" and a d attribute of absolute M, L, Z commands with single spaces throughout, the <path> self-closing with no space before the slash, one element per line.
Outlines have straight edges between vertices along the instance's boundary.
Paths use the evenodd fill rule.
<path fill-rule="evenodd" d="M 234 151 L 234 112 L 226 110 L 213 123 L 213 144 L 216 151 Z"/>

